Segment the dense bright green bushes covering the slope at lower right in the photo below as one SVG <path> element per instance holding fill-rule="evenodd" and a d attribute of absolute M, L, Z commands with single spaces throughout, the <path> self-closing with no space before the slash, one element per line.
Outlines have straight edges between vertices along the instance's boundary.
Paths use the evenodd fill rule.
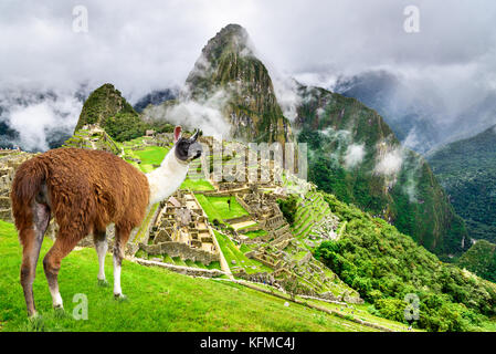
<path fill-rule="evenodd" d="M 374 314 L 402 321 L 407 294 L 420 299 L 415 325 L 429 331 L 478 330 L 496 313 L 496 284 L 441 262 L 384 220 L 325 196 L 347 221 L 337 241 L 323 242 L 315 256 L 361 298 Z"/>

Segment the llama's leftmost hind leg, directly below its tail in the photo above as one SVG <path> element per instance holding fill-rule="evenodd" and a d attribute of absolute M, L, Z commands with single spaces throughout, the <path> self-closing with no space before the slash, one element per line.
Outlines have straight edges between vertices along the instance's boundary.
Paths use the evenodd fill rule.
<path fill-rule="evenodd" d="M 38 258 L 40 257 L 43 236 L 50 222 L 50 209 L 38 202 L 32 207 L 33 225 L 21 229 L 19 238 L 22 243 L 21 285 L 24 291 L 28 315 L 36 314 L 33 295 L 33 282 L 36 273 Z"/>

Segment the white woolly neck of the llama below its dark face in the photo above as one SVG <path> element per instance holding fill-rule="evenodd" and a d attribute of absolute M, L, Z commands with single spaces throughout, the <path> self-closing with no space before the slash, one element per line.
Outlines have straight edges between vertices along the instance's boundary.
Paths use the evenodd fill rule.
<path fill-rule="evenodd" d="M 178 160 L 172 147 L 163 158 L 160 167 L 146 174 L 150 186 L 150 205 L 159 202 L 172 195 L 188 174 L 189 164 Z"/>

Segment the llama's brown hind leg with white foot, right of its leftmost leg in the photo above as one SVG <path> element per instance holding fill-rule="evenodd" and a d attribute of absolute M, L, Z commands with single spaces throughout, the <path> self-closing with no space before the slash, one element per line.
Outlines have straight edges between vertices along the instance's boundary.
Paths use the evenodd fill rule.
<path fill-rule="evenodd" d="M 59 230 L 55 243 L 45 254 L 43 259 L 43 269 L 49 282 L 50 293 L 52 295 L 53 308 L 63 309 L 62 296 L 59 291 L 59 271 L 61 269 L 62 259 L 67 256 L 77 242 L 84 238 L 84 235 L 75 236 Z"/>

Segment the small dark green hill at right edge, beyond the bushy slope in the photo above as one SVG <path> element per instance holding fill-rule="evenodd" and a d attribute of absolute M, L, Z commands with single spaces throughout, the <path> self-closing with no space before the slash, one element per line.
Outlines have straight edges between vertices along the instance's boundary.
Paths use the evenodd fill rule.
<path fill-rule="evenodd" d="M 466 268 L 477 275 L 496 281 L 496 244 L 486 240 L 475 242 L 468 251 L 456 261 L 461 268 Z"/>

